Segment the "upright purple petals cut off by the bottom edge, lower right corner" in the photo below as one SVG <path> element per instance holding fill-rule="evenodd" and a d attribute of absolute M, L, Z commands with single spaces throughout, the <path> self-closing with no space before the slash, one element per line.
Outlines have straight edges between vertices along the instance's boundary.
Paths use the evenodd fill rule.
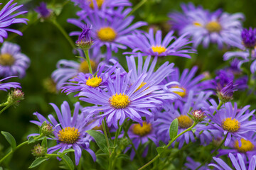
<path fill-rule="evenodd" d="M 242 170 L 255 170 L 256 167 L 256 156 L 253 156 L 252 159 L 250 160 L 250 164 L 245 164 L 244 160 L 242 159 L 241 154 L 238 155 L 238 160 L 235 159 L 235 156 L 233 154 L 228 154 L 230 157 L 230 161 L 232 162 L 233 167 L 228 166 L 225 162 L 223 162 L 222 159 L 213 157 L 215 162 L 217 164 L 209 164 L 208 166 L 213 166 L 216 169 L 219 170 L 233 170 L 235 169 L 242 169 Z"/>

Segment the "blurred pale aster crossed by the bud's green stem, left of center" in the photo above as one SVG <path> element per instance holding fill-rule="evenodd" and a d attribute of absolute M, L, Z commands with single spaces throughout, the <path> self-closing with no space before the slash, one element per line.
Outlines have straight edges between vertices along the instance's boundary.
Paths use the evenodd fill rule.
<path fill-rule="evenodd" d="M 100 59 L 104 57 L 100 54 L 100 51 L 95 52 L 96 53 L 94 54 L 89 51 L 92 72 L 95 72 L 98 62 L 100 62 Z M 56 89 L 60 90 L 64 83 L 68 82 L 69 79 L 77 77 L 80 72 L 89 73 L 89 66 L 86 60 L 80 59 L 80 62 L 75 62 L 73 60 L 60 60 L 57 63 L 57 69 L 52 73 L 51 77 L 56 83 Z"/>

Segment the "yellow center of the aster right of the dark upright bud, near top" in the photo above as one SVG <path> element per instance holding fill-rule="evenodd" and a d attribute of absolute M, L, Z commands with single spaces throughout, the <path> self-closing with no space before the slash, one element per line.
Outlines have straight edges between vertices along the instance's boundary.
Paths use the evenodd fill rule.
<path fill-rule="evenodd" d="M 97 31 L 97 37 L 102 41 L 113 41 L 117 37 L 117 33 L 111 27 L 103 27 Z"/>

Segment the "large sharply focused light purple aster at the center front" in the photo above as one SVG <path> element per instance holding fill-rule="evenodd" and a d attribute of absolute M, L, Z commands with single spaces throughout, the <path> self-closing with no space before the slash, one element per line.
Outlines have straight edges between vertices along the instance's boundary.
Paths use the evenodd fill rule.
<path fill-rule="evenodd" d="M 118 127 L 118 122 L 119 125 L 122 125 L 126 118 L 142 123 L 142 115 L 152 117 L 153 114 L 148 109 L 160 106 L 161 101 L 156 100 L 154 98 L 156 95 L 151 92 L 159 90 L 159 88 L 145 84 L 138 89 L 146 77 L 145 74 L 142 74 L 132 86 L 128 86 L 131 74 L 132 71 L 123 75 L 120 69 L 117 69 L 115 79 L 107 80 L 107 91 L 88 88 L 88 91 L 80 92 L 79 96 L 83 96 L 80 98 L 81 101 L 97 105 L 91 108 L 87 107 L 87 111 L 91 115 L 103 113 L 97 116 L 100 118 L 100 122 L 106 118 L 107 125 L 114 125 L 114 128 Z"/>

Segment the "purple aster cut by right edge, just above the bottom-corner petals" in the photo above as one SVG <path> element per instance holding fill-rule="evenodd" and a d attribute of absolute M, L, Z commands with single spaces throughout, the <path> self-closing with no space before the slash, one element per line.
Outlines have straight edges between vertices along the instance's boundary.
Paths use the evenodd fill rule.
<path fill-rule="evenodd" d="M 240 153 L 243 160 L 247 163 L 247 159 L 250 161 L 250 159 L 252 159 L 252 157 L 256 155 L 256 147 L 255 147 L 256 136 L 248 133 L 246 134 L 245 138 L 247 140 L 245 140 L 244 138 L 241 138 L 240 141 L 233 140 L 228 145 L 230 149 L 220 149 L 218 155 L 229 154 L 229 153 L 233 153 L 233 154 Z M 241 143 L 240 146 L 239 146 L 239 143 Z"/>

